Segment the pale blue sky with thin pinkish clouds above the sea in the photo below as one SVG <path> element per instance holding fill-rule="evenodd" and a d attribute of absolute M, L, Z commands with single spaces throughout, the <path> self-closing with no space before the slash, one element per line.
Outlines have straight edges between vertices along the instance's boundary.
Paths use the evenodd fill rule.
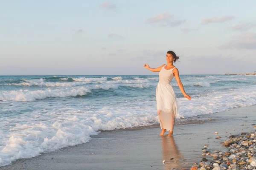
<path fill-rule="evenodd" d="M 256 0 L 0 0 L 0 75 L 256 71 Z"/>

